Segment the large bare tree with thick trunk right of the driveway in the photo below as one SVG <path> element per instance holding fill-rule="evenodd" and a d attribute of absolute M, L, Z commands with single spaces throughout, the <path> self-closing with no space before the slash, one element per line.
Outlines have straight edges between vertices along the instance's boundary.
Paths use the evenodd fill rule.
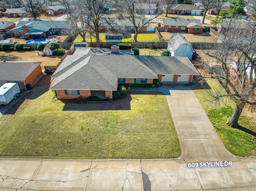
<path fill-rule="evenodd" d="M 222 43 L 217 50 L 207 50 L 205 53 L 218 60 L 221 71 L 214 74 L 225 91 L 212 91 L 213 100 L 230 97 L 236 107 L 228 126 L 238 128 L 238 119 L 246 104 L 256 105 L 256 24 L 248 22 L 245 29 L 239 29 L 240 22 L 227 22 L 227 28 L 222 30 Z M 236 57 L 234 63 L 228 63 L 230 57 Z"/>

